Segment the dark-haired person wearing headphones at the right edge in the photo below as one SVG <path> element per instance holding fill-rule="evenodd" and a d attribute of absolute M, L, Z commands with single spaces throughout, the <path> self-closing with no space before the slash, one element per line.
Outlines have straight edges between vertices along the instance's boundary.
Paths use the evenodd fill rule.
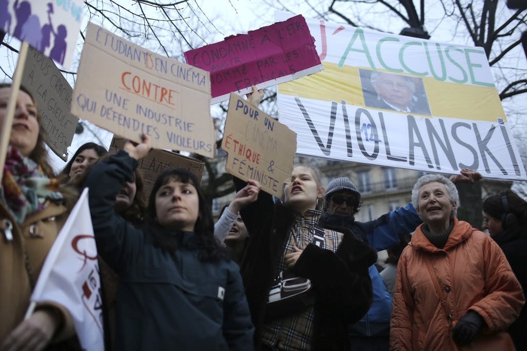
<path fill-rule="evenodd" d="M 527 291 L 527 202 L 512 190 L 491 195 L 483 201 L 483 227 L 500 246 L 512 272 Z M 507 329 L 517 350 L 527 350 L 527 308 Z"/>

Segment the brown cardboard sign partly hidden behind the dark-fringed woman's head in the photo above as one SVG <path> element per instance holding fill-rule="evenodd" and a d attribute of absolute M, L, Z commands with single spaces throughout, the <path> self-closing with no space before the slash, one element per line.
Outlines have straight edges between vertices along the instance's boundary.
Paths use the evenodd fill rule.
<path fill-rule="evenodd" d="M 125 138 L 114 135 L 112 143 L 110 144 L 110 153 L 117 153 L 124 147 Z M 148 156 L 143 157 L 139 161 L 139 172 L 143 176 L 144 195 L 150 195 L 155 179 L 165 169 L 169 168 L 184 168 L 192 172 L 199 180 L 203 175 L 205 163 L 199 159 L 183 156 L 170 151 L 151 149 Z"/>

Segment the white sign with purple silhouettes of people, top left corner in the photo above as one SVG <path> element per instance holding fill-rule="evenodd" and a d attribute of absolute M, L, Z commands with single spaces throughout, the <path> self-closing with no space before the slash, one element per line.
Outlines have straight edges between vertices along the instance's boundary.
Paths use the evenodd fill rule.
<path fill-rule="evenodd" d="M 79 37 L 83 0 L 4 0 L 0 29 L 70 67 Z"/>

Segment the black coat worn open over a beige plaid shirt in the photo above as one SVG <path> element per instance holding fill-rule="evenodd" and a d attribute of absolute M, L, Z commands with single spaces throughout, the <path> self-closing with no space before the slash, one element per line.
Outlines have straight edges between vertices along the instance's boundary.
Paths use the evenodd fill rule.
<path fill-rule="evenodd" d="M 235 185 L 239 190 L 245 183 L 235 178 Z M 274 203 L 271 195 L 260 192 L 257 201 L 241 211 L 241 217 L 250 235 L 241 273 L 258 345 L 266 320 L 269 288 L 278 274 L 278 262 L 295 214 Z M 348 229 L 327 226 L 324 217 L 319 225 L 344 234 L 337 252 L 309 244 L 294 272 L 309 278 L 316 292 L 313 349 L 348 350 L 347 325 L 357 322 L 372 304 L 368 267 L 375 263 L 377 255 Z"/>

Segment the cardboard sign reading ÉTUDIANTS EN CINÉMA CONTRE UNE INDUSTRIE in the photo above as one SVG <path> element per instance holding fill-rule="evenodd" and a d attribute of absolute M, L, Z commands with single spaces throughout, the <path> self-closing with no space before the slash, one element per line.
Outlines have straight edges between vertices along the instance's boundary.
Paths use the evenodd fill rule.
<path fill-rule="evenodd" d="M 148 51 L 92 23 L 86 30 L 72 112 L 153 148 L 216 155 L 209 73 Z"/>

